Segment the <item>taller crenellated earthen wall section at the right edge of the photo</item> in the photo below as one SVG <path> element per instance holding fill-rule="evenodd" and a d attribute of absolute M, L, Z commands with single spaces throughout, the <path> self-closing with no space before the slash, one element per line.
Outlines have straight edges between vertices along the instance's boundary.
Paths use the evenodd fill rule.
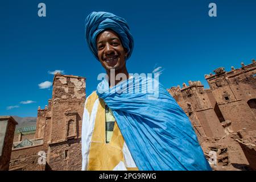
<path fill-rule="evenodd" d="M 256 116 L 248 101 L 256 98 L 256 63 L 207 77 L 210 89 L 225 120 L 234 131 L 256 129 Z"/>

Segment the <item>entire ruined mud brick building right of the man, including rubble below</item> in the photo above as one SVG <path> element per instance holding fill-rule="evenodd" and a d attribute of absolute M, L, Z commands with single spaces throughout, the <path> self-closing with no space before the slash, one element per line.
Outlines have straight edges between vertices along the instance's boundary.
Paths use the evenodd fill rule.
<path fill-rule="evenodd" d="M 251 156 L 256 156 L 256 62 L 214 72 L 205 75 L 209 89 L 200 81 L 189 81 L 168 92 L 191 120 L 205 156 L 209 159 L 209 152 L 216 152 L 213 169 L 255 169 L 256 158 Z M 241 142 L 241 133 L 251 134 L 249 142 Z"/>

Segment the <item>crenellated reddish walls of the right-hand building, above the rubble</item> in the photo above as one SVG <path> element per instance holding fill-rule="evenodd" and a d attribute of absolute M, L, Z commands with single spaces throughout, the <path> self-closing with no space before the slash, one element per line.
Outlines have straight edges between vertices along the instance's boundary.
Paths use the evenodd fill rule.
<path fill-rule="evenodd" d="M 205 75 L 210 89 L 189 81 L 168 89 L 192 122 L 199 140 L 224 137 L 241 129 L 256 130 L 256 63 Z"/>

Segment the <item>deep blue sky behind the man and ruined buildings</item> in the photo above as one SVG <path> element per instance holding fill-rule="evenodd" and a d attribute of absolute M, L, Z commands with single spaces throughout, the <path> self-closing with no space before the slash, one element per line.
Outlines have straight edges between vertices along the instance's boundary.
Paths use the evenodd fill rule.
<path fill-rule="evenodd" d="M 46 4 L 46 17 L 38 4 Z M 217 17 L 208 5 L 217 5 Z M 3 1 L 0 6 L 0 115 L 36 116 L 47 105 L 49 72 L 86 77 L 86 94 L 104 72 L 86 45 L 84 20 L 92 11 L 108 11 L 127 20 L 134 51 L 130 73 L 162 67 L 166 88 L 200 80 L 213 69 L 256 59 L 256 1 Z M 22 102 L 23 101 L 23 102 Z M 24 102 L 26 101 L 26 102 Z M 10 106 L 14 106 L 13 108 Z"/>

